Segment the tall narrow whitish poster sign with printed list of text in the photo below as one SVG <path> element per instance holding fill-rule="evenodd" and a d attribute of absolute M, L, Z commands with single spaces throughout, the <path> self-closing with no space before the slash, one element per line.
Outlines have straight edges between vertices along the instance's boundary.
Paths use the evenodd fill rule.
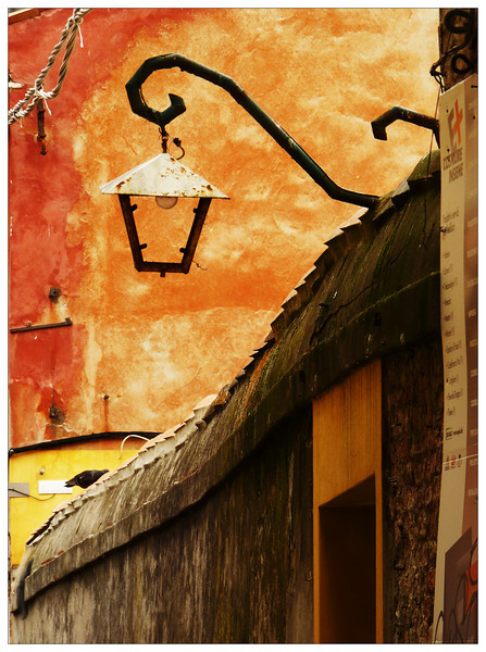
<path fill-rule="evenodd" d="M 440 97 L 444 448 L 434 642 L 477 642 L 477 75 Z"/>

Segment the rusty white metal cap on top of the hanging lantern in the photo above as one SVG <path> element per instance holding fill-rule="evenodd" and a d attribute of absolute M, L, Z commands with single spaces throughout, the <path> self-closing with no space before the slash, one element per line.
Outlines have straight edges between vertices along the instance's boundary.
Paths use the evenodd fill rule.
<path fill-rule="evenodd" d="M 104 195 L 229 199 L 169 153 L 158 154 L 100 188 Z"/>

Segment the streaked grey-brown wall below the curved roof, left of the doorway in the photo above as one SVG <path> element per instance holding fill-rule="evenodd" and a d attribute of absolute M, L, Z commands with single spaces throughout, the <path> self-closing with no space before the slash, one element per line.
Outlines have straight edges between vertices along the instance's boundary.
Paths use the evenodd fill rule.
<path fill-rule="evenodd" d="M 312 642 L 311 418 L 277 428 L 202 503 L 38 594 L 18 642 Z"/>

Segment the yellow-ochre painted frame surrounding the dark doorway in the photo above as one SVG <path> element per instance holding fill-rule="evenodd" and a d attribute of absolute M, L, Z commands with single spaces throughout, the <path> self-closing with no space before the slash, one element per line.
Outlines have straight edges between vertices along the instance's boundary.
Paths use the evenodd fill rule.
<path fill-rule="evenodd" d="M 313 401 L 314 642 L 328 642 L 322 631 L 323 506 L 349 506 L 359 486 L 374 478 L 375 637 L 383 642 L 383 505 L 382 505 L 382 374 L 381 361 L 359 368 Z M 354 489 L 352 492 L 352 489 Z M 350 491 L 351 490 L 351 491 Z M 374 501 L 373 501 L 374 498 Z M 340 504 L 340 500 L 345 504 Z M 349 504 L 348 504 L 349 503 Z M 329 522 L 331 523 L 331 522 Z M 328 525 L 328 524 L 327 524 Z M 332 527 L 328 525 L 328 527 Z M 357 537 L 359 544 L 359 537 Z M 326 591 L 324 590 L 324 593 Z M 325 614 L 324 614 L 325 615 Z M 349 617 L 349 616 L 348 616 Z M 342 627 L 341 627 L 342 630 Z M 336 641 L 344 642 L 344 641 Z M 364 642 L 364 641 L 363 641 Z"/>

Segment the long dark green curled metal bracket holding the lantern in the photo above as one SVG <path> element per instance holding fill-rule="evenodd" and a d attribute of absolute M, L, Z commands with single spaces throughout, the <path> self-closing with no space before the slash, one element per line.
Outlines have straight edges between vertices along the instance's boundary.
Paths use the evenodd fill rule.
<path fill-rule="evenodd" d="M 331 177 L 311 159 L 311 156 L 285 131 L 270 115 L 267 115 L 249 95 L 230 77 L 219 73 L 210 67 L 201 65 L 183 54 L 162 54 L 147 59 L 135 75 L 126 84 L 126 92 L 132 111 L 146 120 L 155 123 L 160 127 L 184 113 L 186 106 L 184 100 L 178 96 L 170 95 L 171 106 L 163 112 L 154 111 L 147 105 L 141 85 L 155 71 L 178 67 L 197 77 L 201 77 L 211 84 L 226 90 L 232 98 L 242 106 L 270 136 L 309 174 L 309 176 L 323 188 L 332 199 L 359 206 L 371 208 L 377 201 L 374 195 L 363 195 L 352 190 L 346 190 L 335 184 Z"/>

